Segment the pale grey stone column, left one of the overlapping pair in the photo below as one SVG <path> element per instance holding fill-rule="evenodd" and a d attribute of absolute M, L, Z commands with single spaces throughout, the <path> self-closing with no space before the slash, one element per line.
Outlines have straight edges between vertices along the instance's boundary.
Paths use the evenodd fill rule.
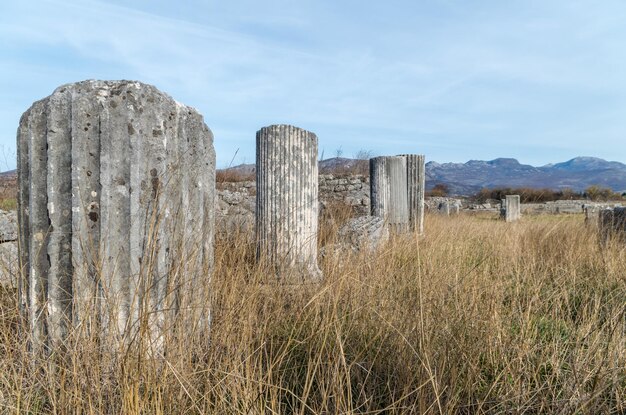
<path fill-rule="evenodd" d="M 370 159 L 372 216 L 383 218 L 392 232 L 409 229 L 407 158 L 382 156 Z"/>

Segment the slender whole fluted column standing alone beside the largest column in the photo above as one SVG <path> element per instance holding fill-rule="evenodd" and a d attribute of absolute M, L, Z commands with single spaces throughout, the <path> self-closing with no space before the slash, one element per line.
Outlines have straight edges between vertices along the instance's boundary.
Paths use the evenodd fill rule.
<path fill-rule="evenodd" d="M 281 278 L 321 278 L 317 265 L 317 136 L 291 125 L 256 134 L 257 258 Z"/>

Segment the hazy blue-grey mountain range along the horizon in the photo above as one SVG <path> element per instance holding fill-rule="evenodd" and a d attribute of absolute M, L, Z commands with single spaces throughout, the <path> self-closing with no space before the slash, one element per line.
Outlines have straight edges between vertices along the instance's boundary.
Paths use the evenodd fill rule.
<path fill-rule="evenodd" d="M 320 161 L 320 173 L 365 172 L 367 160 L 335 157 Z M 222 169 L 243 176 L 254 174 L 253 164 Z M 0 179 L 15 177 L 15 170 L 0 173 Z M 0 180 L 1 181 L 1 180 Z M 455 195 L 474 194 L 482 188 L 531 187 L 581 191 L 592 185 L 626 191 L 626 164 L 596 157 L 576 157 L 563 163 L 535 167 L 520 164 L 513 158 L 497 158 L 467 163 L 426 163 L 426 188 L 437 184 L 448 186 Z"/>

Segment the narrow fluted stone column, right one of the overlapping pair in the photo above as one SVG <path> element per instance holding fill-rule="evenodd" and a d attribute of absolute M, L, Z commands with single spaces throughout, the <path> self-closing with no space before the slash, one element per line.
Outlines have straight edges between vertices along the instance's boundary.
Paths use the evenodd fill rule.
<path fill-rule="evenodd" d="M 409 226 L 412 232 L 424 234 L 424 190 L 426 187 L 425 157 L 405 154 L 409 203 Z"/>

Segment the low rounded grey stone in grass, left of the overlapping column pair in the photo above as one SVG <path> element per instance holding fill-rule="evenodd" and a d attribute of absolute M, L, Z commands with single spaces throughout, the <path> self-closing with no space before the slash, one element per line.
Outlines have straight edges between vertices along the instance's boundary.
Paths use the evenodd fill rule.
<path fill-rule="evenodd" d="M 361 216 L 343 225 L 339 238 L 354 251 L 375 250 L 389 240 L 389 229 L 380 217 Z"/>

